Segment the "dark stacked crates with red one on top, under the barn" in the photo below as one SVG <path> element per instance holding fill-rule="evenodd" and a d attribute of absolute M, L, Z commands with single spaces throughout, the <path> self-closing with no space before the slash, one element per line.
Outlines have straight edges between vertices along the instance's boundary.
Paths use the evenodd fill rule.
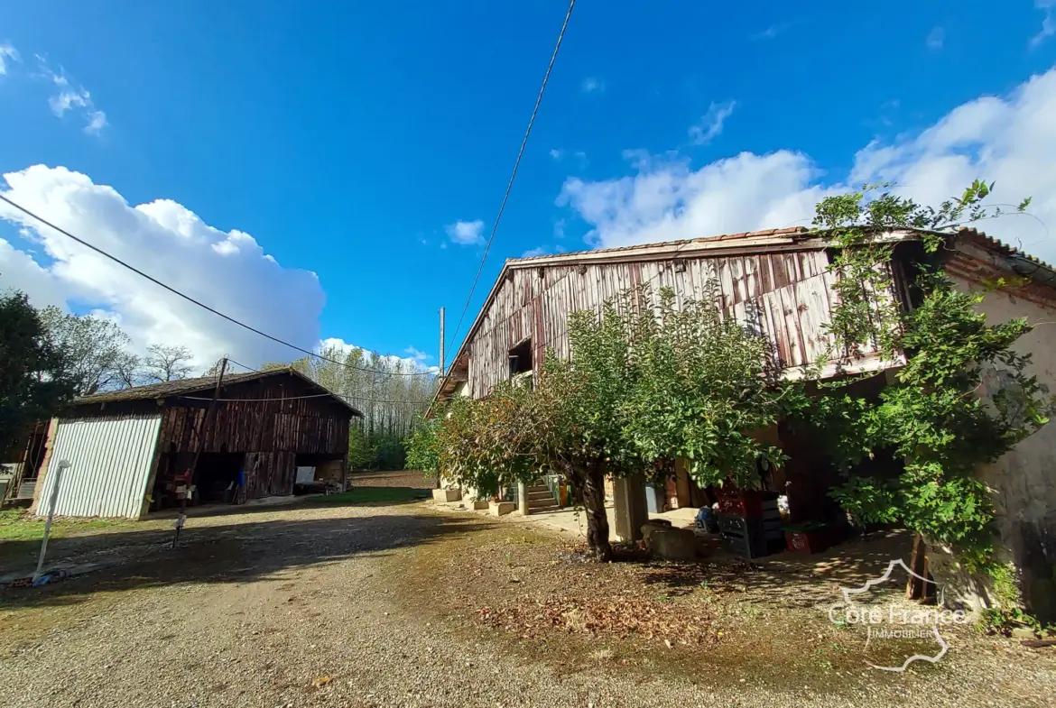
<path fill-rule="evenodd" d="M 719 532 L 727 550 L 758 558 L 785 548 L 777 494 L 735 490 L 719 498 Z"/>

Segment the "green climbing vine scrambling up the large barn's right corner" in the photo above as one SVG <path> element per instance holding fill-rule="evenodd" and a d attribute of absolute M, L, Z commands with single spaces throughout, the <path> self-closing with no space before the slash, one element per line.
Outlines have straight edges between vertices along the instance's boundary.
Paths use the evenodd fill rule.
<path fill-rule="evenodd" d="M 1046 423 L 1052 401 L 1026 372 L 1030 355 L 1013 349 L 1032 325 L 1022 318 L 987 324 L 978 311 L 985 292 L 958 290 L 940 268 L 959 227 L 1000 214 L 983 205 L 993 185 L 976 181 L 937 209 L 889 187 L 824 199 L 814 225 L 830 233 L 835 249 L 834 353 L 851 359 L 870 345 L 889 360 L 904 353 L 906 364 L 872 400 L 851 394 L 853 378 L 822 384 L 824 395 L 807 417 L 847 473 L 832 494 L 848 512 L 865 522 L 902 522 L 950 547 L 969 571 L 984 570 L 994 550 L 994 509 L 979 467 Z M 893 296 L 890 265 L 890 234 L 906 228 L 920 230 L 925 253 L 912 309 Z M 1001 385 L 984 386 L 985 379 Z M 901 473 L 851 474 L 878 454 L 901 461 Z"/>

